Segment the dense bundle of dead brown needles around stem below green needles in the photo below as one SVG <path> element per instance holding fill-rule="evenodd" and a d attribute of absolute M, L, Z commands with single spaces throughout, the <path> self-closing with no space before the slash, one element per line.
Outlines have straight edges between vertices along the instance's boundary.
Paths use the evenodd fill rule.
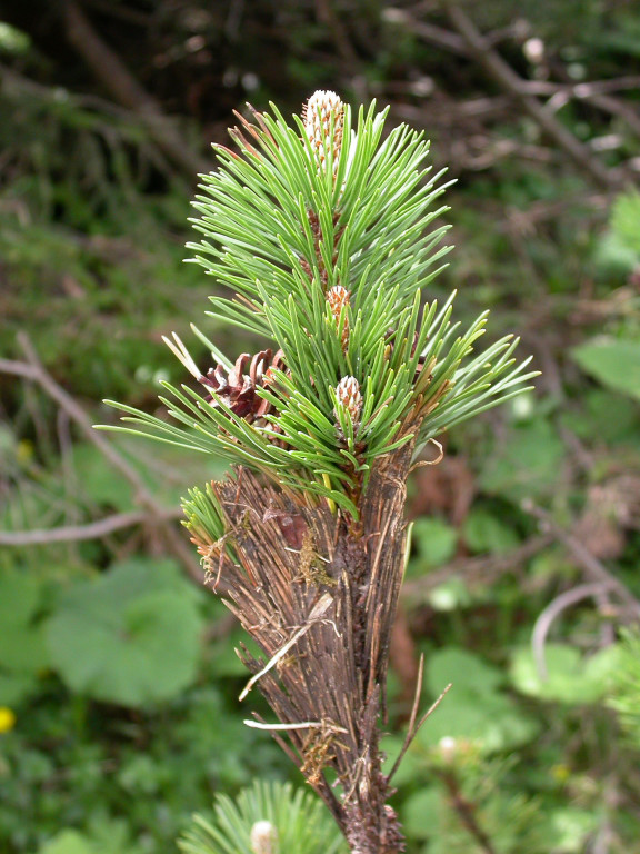
<path fill-rule="evenodd" d="M 353 854 L 404 850 L 387 804 L 378 724 L 402 580 L 411 453 L 409 443 L 377 461 L 358 523 L 324 502 L 291 498 L 244 468 L 213 485 L 232 532 L 218 548 L 230 545 L 237 558 L 222 556 L 227 605 L 264 655 L 241 657 L 259 674 L 296 638 L 256 684 L 281 723 L 313 724 L 278 733 L 278 741 Z M 340 794 L 327 782 L 330 769 Z"/>

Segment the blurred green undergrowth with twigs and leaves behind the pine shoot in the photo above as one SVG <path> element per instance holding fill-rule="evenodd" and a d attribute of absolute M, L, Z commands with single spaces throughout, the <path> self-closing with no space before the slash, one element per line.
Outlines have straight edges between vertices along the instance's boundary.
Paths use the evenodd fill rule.
<path fill-rule="evenodd" d="M 179 527 L 222 466 L 88 426 L 160 411 L 171 330 L 253 346 L 182 264 L 196 175 L 233 109 L 317 88 L 426 130 L 433 296 L 542 370 L 410 486 L 391 757 L 419 654 L 424 707 L 454 686 L 397 777 L 408 850 L 640 852 L 640 4 L 4 2 L 0 83 L 0 852 L 172 852 L 213 793 L 300 783 Z"/>

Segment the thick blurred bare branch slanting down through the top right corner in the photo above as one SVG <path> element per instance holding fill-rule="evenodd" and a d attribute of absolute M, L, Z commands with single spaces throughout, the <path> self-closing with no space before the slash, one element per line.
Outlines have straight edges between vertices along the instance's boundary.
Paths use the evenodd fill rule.
<path fill-rule="evenodd" d="M 487 75 L 502 89 L 512 95 L 522 108 L 540 125 L 542 130 L 580 166 L 601 187 L 619 189 L 623 179 L 613 170 L 604 167 L 589 149 L 580 142 L 546 109 L 540 101 L 527 92 L 527 86 L 513 69 L 493 50 L 487 39 L 477 29 L 468 14 L 449 0 L 444 8 L 449 20 L 456 27 L 470 53 Z"/>

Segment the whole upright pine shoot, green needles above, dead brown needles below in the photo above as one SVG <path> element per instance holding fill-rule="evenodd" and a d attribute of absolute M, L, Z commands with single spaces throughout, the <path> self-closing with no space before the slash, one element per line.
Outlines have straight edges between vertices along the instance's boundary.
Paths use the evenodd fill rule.
<path fill-rule="evenodd" d="M 387 110 L 352 116 L 316 92 L 288 123 L 248 108 L 196 199 L 190 248 L 231 295 L 223 324 L 264 349 L 200 368 L 167 344 L 192 385 L 162 384 L 170 420 L 120 406 L 130 427 L 232 474 L 183 502 L 213 590 L 261 651 L 240 655 L 270 731 L 324 801 L 354 854 L 396 854 L 402 834 L 382 773 L 379 721 L 407 552 L 406 481 L 442 430 L 527 388 L 506 337 L 476 354 L 468 327 L 423 298 L 442 269 L 446 185 L 429 145 Z M 429 231 L 431 229 L 431 231 Z M 419 724 L 420 725 L 420 724 Z M 338 788 L 329 784 L 336 779 Z"/>

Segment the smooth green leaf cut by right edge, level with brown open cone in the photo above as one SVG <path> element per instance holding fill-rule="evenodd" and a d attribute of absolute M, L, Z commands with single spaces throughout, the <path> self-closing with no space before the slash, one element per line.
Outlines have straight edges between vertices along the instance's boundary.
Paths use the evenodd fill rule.
<path fill-rule="evenodd" d="M 602 336 L 574 347 L 571 356 L 607 388 L 640 400 L 640 340 Z"/>

